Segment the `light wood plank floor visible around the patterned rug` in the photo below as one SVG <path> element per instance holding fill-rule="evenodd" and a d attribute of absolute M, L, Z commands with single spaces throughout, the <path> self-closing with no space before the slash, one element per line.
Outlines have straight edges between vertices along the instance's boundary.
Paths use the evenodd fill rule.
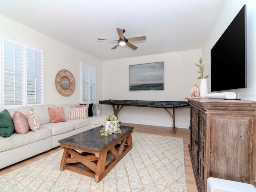
<path fill-rule="evenodd" d="M 196 182 L 195 182 L 194 173 L 193 173 L 192 165 L 191 165 L 191 161 L 190 161 L 190 155 L 189 155 L 189 151 L 188 151 L 189 129 L 177 128 L 176 133 L 173 134 L 173 133 L 170 133 L 171 128 L 167 128 L 167 127 L 148 126 L 148 125 L 139 125 L 139 124 L 127 124 L 127 123 L 121 123 L 121 125 L 133 126 L 134 127 L 133 132 L 182 137 L 183 142 L 184 142 L 184 163 L 185 163 L 185 170 L 186 170 L 186 181 L 187 181 L 188 192 L 197 192 Z M 57 150 L 61 150 L 61 148 L 57 148 L 56 150 L 51 150 L 48 153 L 39 154 L 37 156 L 34 156 L 34 157 L 24 160 L 22 162 L 8 166 L 7 168 L 0 169 L 0 176 L 3 174 L 6 174 L 8 172 L 11 172 L 13 170 L 16 170 L 17 168 L 20 168 L 22 166 L 30 164 L 36 160 L 39 160 L 40 158 L 44 158 L 45 156 L 48 156 L 48 155 L 56 152 Z"/>

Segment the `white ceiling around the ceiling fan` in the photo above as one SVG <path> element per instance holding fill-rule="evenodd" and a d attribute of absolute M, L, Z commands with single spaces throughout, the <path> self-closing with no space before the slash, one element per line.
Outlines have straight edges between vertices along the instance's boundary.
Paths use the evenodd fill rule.
<path fill-rule="evenodd" d="M 0 0 L 0 14 L 100 60 L 200 49 L 223 0 Z M 118 46 L 116 28 L 136 50 Z"/>

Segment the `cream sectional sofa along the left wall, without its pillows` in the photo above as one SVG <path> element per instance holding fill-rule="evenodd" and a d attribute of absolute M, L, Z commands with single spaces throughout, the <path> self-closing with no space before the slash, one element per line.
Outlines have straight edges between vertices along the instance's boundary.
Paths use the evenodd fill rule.
<path fill-rule="evenodd" d="M 51 123 L 48 107 L 63 107 L 66 122 Z M 11 116 L 15 111 L 25 116 L 29 110 L 36 114 L 39 130 L 29 130 L 26 134 L 17 134 L 15 131 L 10 137 L 0 136 L 0 169 L 20 162 L 42 152 L 60 146 L 60 139 L 84 132 L 104 124 L 106 116 L 97 115 L 87 119 L 68 120 L 68 110 L 74 108 L 72 104 L 64 105 L 37 105 L 24 106 L 8 110 Z"/>

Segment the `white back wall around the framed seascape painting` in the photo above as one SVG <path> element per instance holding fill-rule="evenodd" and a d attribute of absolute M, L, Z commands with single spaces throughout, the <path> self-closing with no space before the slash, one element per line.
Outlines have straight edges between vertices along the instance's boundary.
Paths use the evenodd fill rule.
<path fill-rule="evenodd" d="M 197 80 L 197 68 L 201 50 L 190 50 L 103 62 L 103 100 L 158 100 L 186 101 Z M 164 62 L 164 90 L 129 91 L 129 65 Z M 102 105 L 102 113 L 113 113 L 111 105 Z M 170 109 L 172 112 L 172 109 Z M 118 113 L 121 122 L 172 126 L 172 118 L 161 108 L 124 106 Z M 175 126 L 189 128 L 189 109 L 175 110 Z"/>

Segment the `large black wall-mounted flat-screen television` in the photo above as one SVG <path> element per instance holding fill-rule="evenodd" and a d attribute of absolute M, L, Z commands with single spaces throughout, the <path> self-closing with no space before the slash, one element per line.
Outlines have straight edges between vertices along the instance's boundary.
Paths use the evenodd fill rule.
<path fill-rule="evenodd" d="M 211 49 L 211 92 L 247 87 L 246 5 Z"/>

